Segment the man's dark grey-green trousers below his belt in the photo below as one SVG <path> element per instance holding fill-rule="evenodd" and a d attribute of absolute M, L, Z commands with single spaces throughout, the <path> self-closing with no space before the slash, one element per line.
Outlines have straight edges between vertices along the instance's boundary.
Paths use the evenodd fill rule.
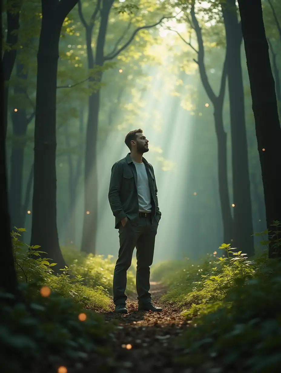
<path fill-rule="evenodd" d="M 127 295 L 125 295 L 127 270 L 131 266 L 134 248 L 137 249 L 136 286 L 138 304 L 151 301 L 149 278 L 157 228 L 157 220 L 151 217 L 140 217 L 137 226 L 132 225 L 129 219 L 125 227 L 120 224 L 120 249 L 113 276 L 113 302 L 115 305 L 125 303 L 127 300 Z"/>

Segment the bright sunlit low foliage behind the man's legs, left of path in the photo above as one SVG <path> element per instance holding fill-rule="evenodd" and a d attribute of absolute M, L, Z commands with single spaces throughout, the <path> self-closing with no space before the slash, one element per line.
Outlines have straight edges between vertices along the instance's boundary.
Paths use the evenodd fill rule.
<path fill-rule="evenodd" d="M 115 267 L 113 256 L 85 254 L 72 247 L 62 247 L 63 257 L 69 264 L 69 269 L 76 276 L 81 276 L 86 286 L 104 289 L 112 295 L 112 280 Z M 127 294 L 135 292 L 135 276 L 127 273 Z"/>

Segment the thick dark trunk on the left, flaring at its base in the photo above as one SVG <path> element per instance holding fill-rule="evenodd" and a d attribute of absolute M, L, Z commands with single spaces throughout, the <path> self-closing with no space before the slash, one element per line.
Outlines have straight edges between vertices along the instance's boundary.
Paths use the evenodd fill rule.
<path fill-rule="evenodd" d="M 37 54 L 34 133 L 34 188 L 31 245 L 65 265 L 56 220 L 56 90 L 62 23 L 77 0 L 42 0 L 42 25 Z"/>

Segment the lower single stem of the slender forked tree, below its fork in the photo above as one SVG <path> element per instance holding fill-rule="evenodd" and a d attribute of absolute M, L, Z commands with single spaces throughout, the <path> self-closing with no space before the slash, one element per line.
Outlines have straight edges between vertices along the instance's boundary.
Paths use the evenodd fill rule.
<path fill-rule="evenodd" d="M 233 220 L 230 211 L 227 175 L 227 134 L 224 131 L 222 119 L 222 103 L 214 105 L 214 120 L 218 146 L 218 181 L 219 200 L 221 202 L 222 225 L 224 228 L 224 243 L 230 244 L 233 239 Z"/>

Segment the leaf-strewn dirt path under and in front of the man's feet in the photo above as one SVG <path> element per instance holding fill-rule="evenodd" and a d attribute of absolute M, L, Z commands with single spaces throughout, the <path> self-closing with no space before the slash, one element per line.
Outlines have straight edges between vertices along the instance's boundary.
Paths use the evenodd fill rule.
<path fill-rule="evenodd" d="M 103 313 L 106 321 L 116 320 L 117 329 L 111 334 L 112 353 L 107 358 L 107 372 L 112 373 L 188 373 L 189 369 L 175 366 L 173 359 L 178 354 L 175 339 L 188 328 L 188 320 L 181 316 L 173 304 L 162 303 L 160 298 L 166 292 L 161 283 L 152 282 L 152 301 L 163 308 L 162 312 L 138 312 L 136 298 L 128 298 L 127 315 L 112 311 Z M 83 372 L 103 372 L 97 358 L 84 366 Z M 105 361 L 104 361 L 105 363 Z"/>

